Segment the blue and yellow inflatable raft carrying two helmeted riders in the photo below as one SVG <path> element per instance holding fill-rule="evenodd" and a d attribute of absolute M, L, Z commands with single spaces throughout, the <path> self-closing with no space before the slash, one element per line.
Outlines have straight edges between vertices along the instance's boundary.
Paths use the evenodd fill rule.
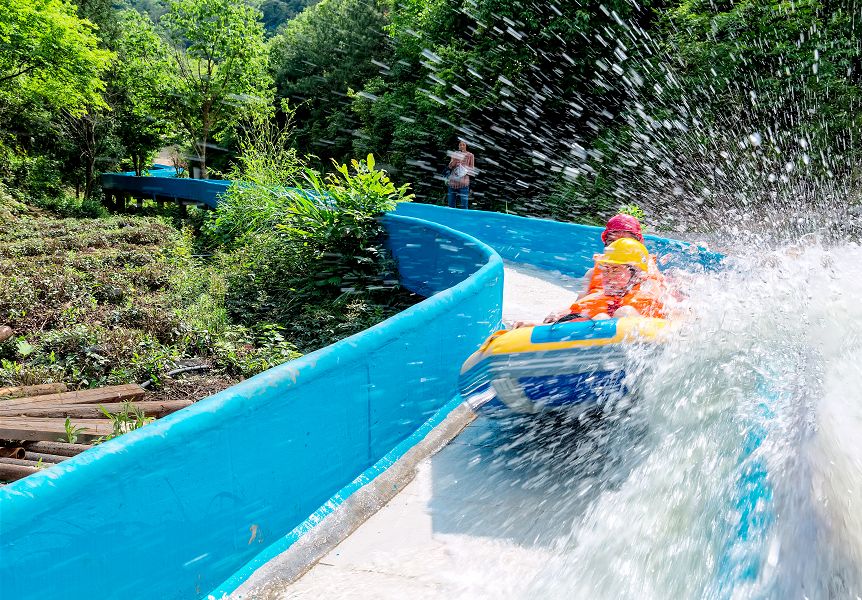
<path fill-rule="evenodd" d="M 461 396 L 482 412 L 586 410 L 628 393 L 635 344 L 660 344 L 670 322 L 621 318 L 497 331 L 461 367 Z M 508 410 L 506 410 L 508 409 Z"/>

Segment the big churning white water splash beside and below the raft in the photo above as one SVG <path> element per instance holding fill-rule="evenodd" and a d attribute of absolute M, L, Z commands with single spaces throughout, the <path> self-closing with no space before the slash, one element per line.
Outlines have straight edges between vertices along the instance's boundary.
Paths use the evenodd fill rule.
<path fill-rule="evenodd" d="M 540 552 L 463 557 L 454 595 L 862 593 L 860 261 L 855 244 L 794 246 L 679 274 L 690 315 L 660 357 L 637 351 L 624 415 L 503 430 L 474 457 L 490 463 L 481 496 L 508 487 L 534 503 L 507 508 L 494 536 Z"/>

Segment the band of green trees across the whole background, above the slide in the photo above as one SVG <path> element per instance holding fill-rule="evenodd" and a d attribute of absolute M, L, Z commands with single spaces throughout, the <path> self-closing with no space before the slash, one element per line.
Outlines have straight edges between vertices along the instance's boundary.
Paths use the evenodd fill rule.
<path fill-rule="evenodd" d="M 854 0 L 127 2 L 148 16 L 7 2 L 8 172 L 65 164 L 90 189 L 176 142 L 206 176 L 285 100 L 319 165 L 373 153 L 440 201 L 463 139 L 478 207 L 556 218 L 760 202 L 859 171 Z"/>

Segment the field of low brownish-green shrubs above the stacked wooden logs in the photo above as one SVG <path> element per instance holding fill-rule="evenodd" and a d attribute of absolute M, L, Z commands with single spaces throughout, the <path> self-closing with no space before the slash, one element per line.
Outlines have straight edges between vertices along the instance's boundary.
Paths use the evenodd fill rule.
<path fill-rule="evenodd" d="M 299 355 L 277 328 L 230 323 L 218 275 L 160 220 L 10 215 L 0 321 L 17 335 L 0 344 L 0 385 L 158 384 L 184 359 L 247 377 Z"/>

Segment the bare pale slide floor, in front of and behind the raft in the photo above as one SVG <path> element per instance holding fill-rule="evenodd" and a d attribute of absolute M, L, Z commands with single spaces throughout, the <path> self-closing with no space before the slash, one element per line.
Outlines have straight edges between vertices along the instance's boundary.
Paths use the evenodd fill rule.
<path fill-rule="evenodd" d="M 580 279 L 506 265 L 504 321 L 541 321 L 571 304 Z M 566 523 L 549 518 L 553 473 L 511 464 L 499 425 L 479 418 L 415 479 L 279 598 L 501 598 L 526 592 Z M 533 457 L 538 458 L 538 457 Z M 536 485 L 528 482 L 535 478 Z M 585 500 L 586 501 L 586 500 Z M 576 508 L 576 507 L 569 507 Z M 570 523 L 570 521 L 569 521 Z"/>

